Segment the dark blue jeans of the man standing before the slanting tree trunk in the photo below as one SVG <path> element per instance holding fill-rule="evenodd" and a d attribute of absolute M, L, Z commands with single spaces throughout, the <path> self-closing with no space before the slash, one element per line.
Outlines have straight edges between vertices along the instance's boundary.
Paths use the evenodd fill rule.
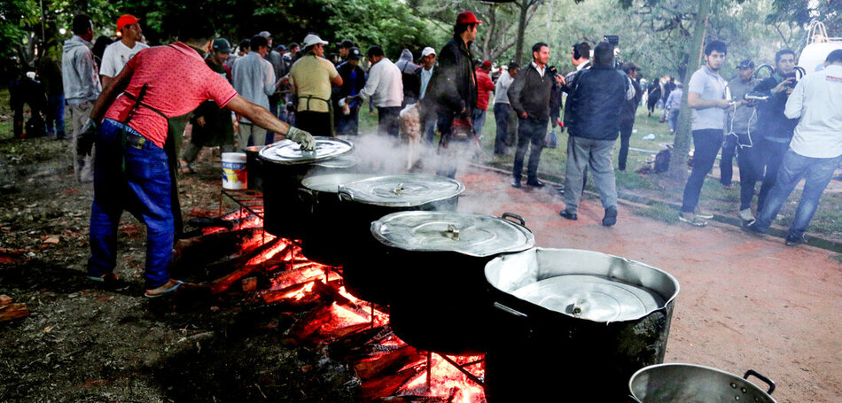
<path fill-rule="evenodd" d="M 716 153 L 722 145 L 722 130 L 720 128 L 709 128 L 693 130 L 693 170 L 687 178 L 684 186 L 684 197 L 682 201 L 682 213 L 693 213 L 698 205 L 698 195 L 705 183 L 705 176 L 713 168 L 713 161 L 716 160 Z"/>

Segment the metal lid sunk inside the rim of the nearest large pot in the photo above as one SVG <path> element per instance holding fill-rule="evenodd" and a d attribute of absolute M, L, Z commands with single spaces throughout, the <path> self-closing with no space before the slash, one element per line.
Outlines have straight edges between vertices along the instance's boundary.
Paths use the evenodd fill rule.
<path fill-rule="evenodd" d="M 635 320 L 665 305 L 654 291 L 601 275 L 559 275 L 511 294 L 550 311 L 595 322 Z"/>

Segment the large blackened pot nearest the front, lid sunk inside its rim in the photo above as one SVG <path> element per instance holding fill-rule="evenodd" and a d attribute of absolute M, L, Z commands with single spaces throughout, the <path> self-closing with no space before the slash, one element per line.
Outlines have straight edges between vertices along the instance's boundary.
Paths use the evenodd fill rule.
<path fill-rule="evenodd" d="M 489 402 L 624 401 L 629 376 L 664 360 L 679 285 L 658 268 L 534 248 L 495 258 L 485 275 L 497 308 Z"/>

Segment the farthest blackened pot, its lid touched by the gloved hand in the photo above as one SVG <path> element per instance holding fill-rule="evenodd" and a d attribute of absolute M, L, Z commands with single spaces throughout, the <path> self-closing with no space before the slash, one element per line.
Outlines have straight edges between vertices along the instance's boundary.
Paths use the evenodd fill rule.
<path fill-rule="evenodd" d="M 298 143 L 282 140 L 260 151 L 263 165 L 263 228 L 269 234 L 299 239 L 308 225 L 308 205 L 298 191 L 316 164 L 354 150 L 354 144 L 333 137 L 316 137 L 316 151 L 301 151 Z"/>

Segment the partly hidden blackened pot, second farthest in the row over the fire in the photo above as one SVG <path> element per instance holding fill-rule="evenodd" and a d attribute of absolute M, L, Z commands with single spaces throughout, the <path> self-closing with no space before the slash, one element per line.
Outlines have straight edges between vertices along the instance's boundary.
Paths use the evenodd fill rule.
<path fill-rule="evenodd" d="M 324 172 L 324 171 L 323 171 Z M 301 240 L 309 260 L 324 265 L 341 266 L 342 249 L 347 242 L 339 236 L 338 225 L 344 221 L 339 213 L 339 186 L 370 178 L 372 174 L 308 174 L 301 181 L 301 199 L 310 219 Z"/>

